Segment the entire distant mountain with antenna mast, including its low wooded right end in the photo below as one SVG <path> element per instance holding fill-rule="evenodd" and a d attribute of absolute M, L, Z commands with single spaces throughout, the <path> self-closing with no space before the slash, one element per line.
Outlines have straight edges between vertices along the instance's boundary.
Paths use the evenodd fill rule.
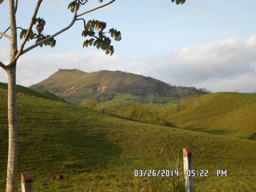
<path fill-rule="evenodd" d="M 47 79 L 30 86 L 30 88 L 80 99 L 88 97 L 88 93 L 92 93 L 92 95 L 93 93 L 114 93 L 190 97 L 194 91 L 199 91 L 195 87 L 171 86 L 152 77 L 122 71 L 102 70 L 87 73 L 76 69 L 59 69 Z M 205 93 L 207 93 L 206 90 L 201 89 L 201 94 Z"/>

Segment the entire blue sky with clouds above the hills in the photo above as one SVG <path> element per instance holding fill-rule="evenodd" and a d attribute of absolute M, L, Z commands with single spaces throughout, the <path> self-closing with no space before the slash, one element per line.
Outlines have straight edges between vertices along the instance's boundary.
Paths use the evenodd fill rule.
<path fill-rule="evenodd" d="M 28 28 L 36 2 L 18 2 L 17 26 Z M 37 17 L 46 21 L 45 34 L 51 35 L 71 22 L 70 2 L 42 1 Z M 107 2 L 88 0 L 78 13 Z M 86 21 L 106 22 L 106 31 L 121 31 L 121 41 L 111 41 L 115 49 L 111 57 L 93 46 L 83 49 L 87 38 L 81 36 L 83 22 L 77 21 L 55 37 L 54 48 L 38 46 L 18 59 L 17 84 L 31 86 L 60 68 L 79 67 L 85 72 L 126 71 L 212 92 L 256 92 L 255 7 L 252 0 L 186 0 L 183 5 L 171 0 L 116 0 L 83 16 Z M 0 18 L 3 32 L 10 25 L 8 1 L 0 5 Z M 33 43 L 27 42 L 25 48 Z M 2 37 L 0 61 L 5 65 L 9 47 L 9 40 Z M 2 68 L 0 82 L 7 82 Z"/>

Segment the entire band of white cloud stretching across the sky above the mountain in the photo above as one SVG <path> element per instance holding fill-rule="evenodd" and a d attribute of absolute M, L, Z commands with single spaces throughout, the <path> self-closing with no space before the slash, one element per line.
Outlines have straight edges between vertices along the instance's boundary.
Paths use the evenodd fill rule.
<path fill-rule="evenodd" d="M 17 63 L 17 84 L 30 86 L 42 81 L 59 68 L 78 68 L 91 72 L 120 70 L 151 76 L 171 85 L 196 86 L 218 91 L 255 92 L 256 87 L 256 34 L 246 42 L 237 37 L 183 47 L 174 55 L 131 58 L 105 55 L 94 51 L 48 54 L 42 57 L 33 53 L 22 55 Z M 1 60 L 8 62 L 8 50 L 0 50 Z M 3 57 L 2 57 L 3 56 Z M 7 82 L 6 72 L 0 70 L 0 82 Z"/>

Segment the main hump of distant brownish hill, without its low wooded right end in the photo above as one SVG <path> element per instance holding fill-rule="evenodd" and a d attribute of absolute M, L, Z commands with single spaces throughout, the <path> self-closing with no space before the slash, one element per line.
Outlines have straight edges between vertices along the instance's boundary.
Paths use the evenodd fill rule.
<path fill-rule="evenodd" d="M 49 78 L 31 86 L 35 89 L 47 89 L 53 93 L 71 92 L 116 92 L 137 94 L 163 94 L 170 85 L 151 77 L 121 71 L 97 71 L 86 73 L 79 70 L 59 70 Z"/>

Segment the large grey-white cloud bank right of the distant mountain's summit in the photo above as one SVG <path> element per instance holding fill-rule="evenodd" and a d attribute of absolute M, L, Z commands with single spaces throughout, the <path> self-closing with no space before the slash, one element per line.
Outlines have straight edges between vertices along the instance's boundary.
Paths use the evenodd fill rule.
<path fill-rule="evenodd" d="M 154 71 L 158 74 L 155 78 L 172 85 L 206 87 L 214 92 L 255 92 L 255 46 L 256 35 L 253 34 L 246 43 L 230 37 L 196 47 L 183 47 L 162 68 Z"/>

